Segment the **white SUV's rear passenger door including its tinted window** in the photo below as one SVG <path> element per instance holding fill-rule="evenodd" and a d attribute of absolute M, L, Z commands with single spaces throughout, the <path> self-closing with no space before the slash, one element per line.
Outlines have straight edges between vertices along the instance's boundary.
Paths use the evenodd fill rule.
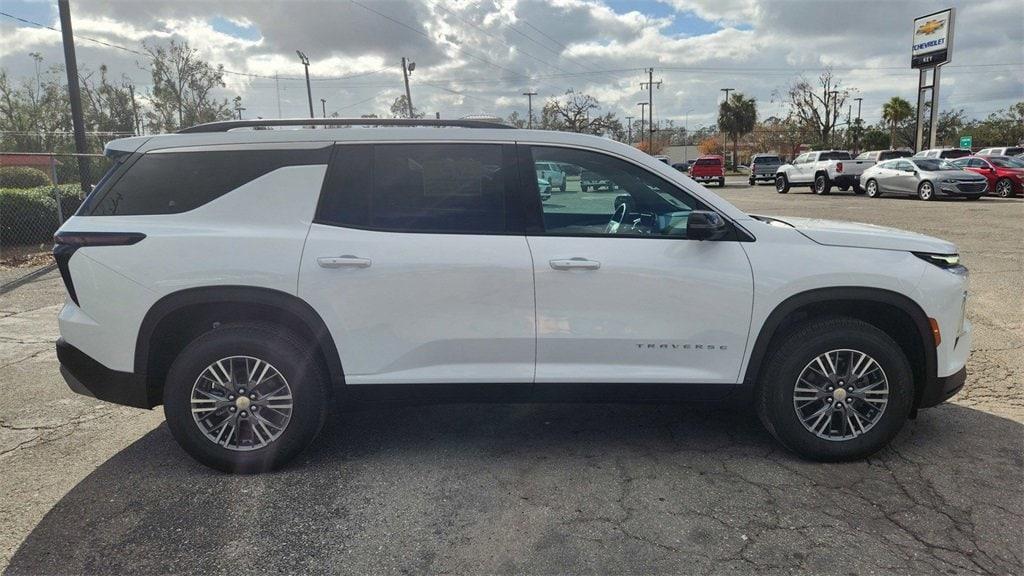
<path fill-rule="evenodd" d="M 298 289 L 347 383 L 532 381 L 517 177 L 513 146 L 335 147 Z"/>

